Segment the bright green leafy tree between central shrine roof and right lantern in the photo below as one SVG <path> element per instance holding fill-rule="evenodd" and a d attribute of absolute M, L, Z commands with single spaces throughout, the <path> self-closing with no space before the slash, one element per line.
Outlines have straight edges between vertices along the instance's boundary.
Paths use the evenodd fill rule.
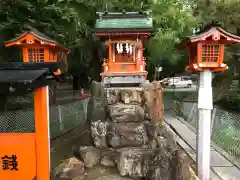
<path fill-rule="evenodd" d="M 191 35 L 197 26 L 197 19 L 186 4 L 176 0 L 156 0 L 152 5 L 154 25 L 157 30 L 150 40 L 149 52 L 153 64 L 162 64 L 165 60 L 176 64 L 181 54 L 175 49 L 175 44 L 181 37 Z"/>

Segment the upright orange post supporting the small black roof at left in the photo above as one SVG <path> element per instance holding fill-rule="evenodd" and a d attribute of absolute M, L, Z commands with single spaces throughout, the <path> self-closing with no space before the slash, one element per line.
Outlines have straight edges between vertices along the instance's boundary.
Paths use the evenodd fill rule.
<path fill-rule="evenodd" d="M 48 86 L 34 90 L 37 179 L 50 180 Z"/>

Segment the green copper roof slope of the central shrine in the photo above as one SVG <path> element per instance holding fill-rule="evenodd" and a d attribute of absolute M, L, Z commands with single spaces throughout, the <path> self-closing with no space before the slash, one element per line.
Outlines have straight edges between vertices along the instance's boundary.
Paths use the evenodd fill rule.
<path fill-rule="evenodd" d="M 97 19 L 96 29 L 148 29 L 153 28 L 152 18 Z"/>

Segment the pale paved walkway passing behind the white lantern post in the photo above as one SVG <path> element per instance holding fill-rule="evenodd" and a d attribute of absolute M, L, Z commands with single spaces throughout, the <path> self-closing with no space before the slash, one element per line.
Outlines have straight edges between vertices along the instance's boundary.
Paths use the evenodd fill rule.
<path fill-rule="evenodd" d="M 175 134 L 178 144 L 196 162 L 196 134 L 185 123 L 165 114 L 166 127 Z M 240 180 L 240 170 L 211 147 L 211 180 Z"/>

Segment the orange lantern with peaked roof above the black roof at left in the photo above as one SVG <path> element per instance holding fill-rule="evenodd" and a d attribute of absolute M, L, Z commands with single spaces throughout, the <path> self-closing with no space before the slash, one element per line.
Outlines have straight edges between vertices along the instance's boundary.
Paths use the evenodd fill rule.
<path fill-rule="evenodd" d="M 61 68 L 56 73 L 67 70 L 69 50 L 35 29 L 5 42 L 5 46 L 18 46 L 22 49 L 23 62 L 58 62 Z"/>

